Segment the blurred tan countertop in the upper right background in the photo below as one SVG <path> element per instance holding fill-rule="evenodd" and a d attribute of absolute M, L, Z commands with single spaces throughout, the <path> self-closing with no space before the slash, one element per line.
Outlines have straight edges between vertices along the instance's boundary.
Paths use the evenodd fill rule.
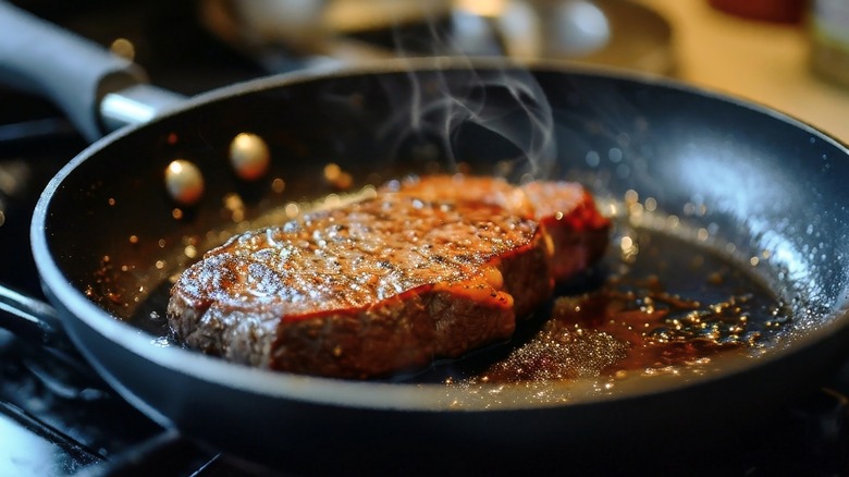
<path fill-rule="evenodd" d="M 849 144 L 849 86 L 811 71 L 803 23 L 738 17 L 706 0 L 639 1 L 672 24 L 680 80 L 772 107 Z"/>

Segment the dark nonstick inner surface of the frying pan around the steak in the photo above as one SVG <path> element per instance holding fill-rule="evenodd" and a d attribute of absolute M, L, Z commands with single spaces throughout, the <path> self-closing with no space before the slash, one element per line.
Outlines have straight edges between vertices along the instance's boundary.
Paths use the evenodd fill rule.
<path fill-rule="evenodd" d="M 533 138 L 521 125 L 528 112 L 509 103 L 515 96 L 489 85 L 481 89 L 488 101 L 508 102 L 497 109 L 500 121 L 519 126 L 505 133 L 493 123 L 463 123 L 446 139 L 433 126 L 446 124 L 443 109 L 433 109 L 439 119 L 422 112 L 424 126 L 415 130 L 411 109 L 398 109 L 399 98 L 414 93 L 438 95 L 445 85 L 504 71 L 426 70 L 414 80 L 404 72 L 352 74 L 281 85 L 271 80 L 235 95 L 201 98 L 72 164 L 47 216 L 51 254 L 81 294 L 133 330 L 149 332 L 142 339 L 151 353 L 181 352 L 162 328 L 168 288 L 204 250 L 239 231 L 285 220 L 316 199 L 333 203 L 404 174 L 460 170 L 515 182 L 579 181 L 596 194 L 603 211 L 616 218 L 612 246 L 605 262 L 567 284 L 564 295 L 591 293 L 610 277 L 659 278 L 668 293 L 707 305 L 746 295 L 751 320 L 737 339 L 763 337 L 743 346 L 742 357 L 731 353 L 728 359 L 703 360 L 692 372 L 661 372 L 649 384 L 631 372 L 546 382 L 542 394 L 518 386 L 518 397 L 504 397 L 513 391 L 499 387 L 499 403 L 513 406 L 528 396 L 580 401 L 652 392 L 661 382 L 684 386 L 787 353 L 842 321 L 849 221 L 835 179 L 847 167 L 841 146 L 735 101 L 586 72 L 516 70 L 521 81 L 532 82 L 528 91 L 545 95 L 547 139 Z M 239 179 L 226 160 L 230 142 L 243 132 L 258 134 L 271 150 L 271 170 L 258 181 Z M 206 189 L 197 205 L 176 205 L 163 187 L 164 169 L 175 158 L 202 171 Z M 336 182 L 328 166 L 350 174 L 350 185 Z M 639 254 L 628 257 L 635 247 Z M 534 319 L 529 330 L 544 320 Z M 393 383 L 424 389 L 435 382 L 440 406 L 463 405 L 458 395 L 478 396 L 484 389 L 466 386 L 473 381 L 472 369 L 509 350 L 485 350 Z M 464 386 L 445 392 L 446 380 Z M 484 407 L 493 403 L 488 400 Z"/>

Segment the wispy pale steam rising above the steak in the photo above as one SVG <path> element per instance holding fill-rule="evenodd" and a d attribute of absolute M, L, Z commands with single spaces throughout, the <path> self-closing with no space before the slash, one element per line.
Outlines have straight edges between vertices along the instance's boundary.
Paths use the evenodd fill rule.
<path fill-rule="evenodd" d="M 399 56 L 409 58 L 423 52 L 456 59 L 504 52 L 495 29 L 489 32 L 489 41 L 484 41 L 489 48 L 480 48 L 480 37 L 487 35 L 478 34 L 475 41 L 478 47 L 472 49 L 468 34 L 456 29 L 446 34 L 435 15 L 430 19 L 429 28 L 427 51 L 422 51 L 421 45 L 409 44 L 396 28 L 394 42 Z M 435 142 L 447 160 L 456 164 L 465 161 L 468 154 L 475 154 L 460 146 L 470 143 L 489 148 L 491 156 L 508 166 L 505 172 L 531 174 L 537 179 L 551 173 L 557 155 L 552 108 L 529 72 L 520 68 L 477 71 L 469 64 L 466 82 L 456 77 L 448 81 L 439 74 L 419 75 L 414 69 L 408 75 L 410 94 L 396 98 L 397 113 L 386 131 L 397 138 L 395 150 L 402 150 L 407 143 Z M 467 135 L 475 140 L 468 140 Z M 467 138 L 460 140 L 462 137 Z"/>

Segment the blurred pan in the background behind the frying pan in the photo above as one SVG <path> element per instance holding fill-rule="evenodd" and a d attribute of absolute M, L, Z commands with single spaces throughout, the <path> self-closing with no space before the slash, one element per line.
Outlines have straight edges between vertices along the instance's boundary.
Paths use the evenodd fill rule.
<path fill-rule="evenodd" d="M 668 22 L 627 0 L 201 0 L 199 12 L 210 32 L 278 72 L 433 54 L 675 71 Z"/>

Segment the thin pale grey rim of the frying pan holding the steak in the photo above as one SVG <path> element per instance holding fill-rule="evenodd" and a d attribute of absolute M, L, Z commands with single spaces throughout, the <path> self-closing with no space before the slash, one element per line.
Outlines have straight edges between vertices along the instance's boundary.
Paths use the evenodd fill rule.
<path fill-rule="evenodd" d="M 754 109 L 765 113 L 778 121 L 789 122 L 797 127 L 802 127 L 820 140 L 827 140 L 841 148 L 847 156 L 849 150 L 847 146 L 838 139 L 826 133 L 801 122 L 790 115 L 772 108 L 758 105 L 755 102 L 726 96 L 721 93 L 710 91 L 697 86 L 680 83 L 675 80 L 654 76 L 645 73 L 624 72 L 606 68 L 589 68 L 575 64 L 564 64 L 559 61 L 545 61 L 534 64 L 517 63 L 515 61 L 503 60 L 476 60 L 468 59 L 403 59 L 376 62 L 370 65 L 342 66 L 334 65 L 322 69 L 321 71 L 295 72 L 283 75 L 268 76 L 247 83 L 227 86 L 217 89 L 196 98 L 192 98 L 179 107 L 168 111 L 157 121 L 180 114 L 182 111 L 193 109 L 198 106 L 214 102 L 218 100 L 232 98 L 239 95 L 250 94 L 255 90 L 267 90 L 270 88 L 280 88 L 287 85 L 306 81 L 324 81 L 346 75 L 364 75 L 379 73 L 405 73 L 408 71 L 419 71 L 424 69 L 457 69 L 468 68 L 469 65 L 480 68 L 528 68 L 531 71 L 552 71 L 557 73 L 577 73 L 588 75 L 603 75 L 640 83 L 650 83 L 675 89 L 707 96 L 726 102 L 733 102 L 748 109 Z M 568 68 L 566 68 L 568 66 Z M 150 124 L 150 123 L 148 123 Z M 657 379 L 644 390 L 617 390 L 616 393 L 604 395 L 599 393 L 589 393 L 576 395 L 574 401 L 555 403 L 505 403 L 503 405 L 485 407 L 470 406 L 453 407 L 445 404 L 445 386 L 443 384 L 404 384 L 373 381 L 346 381 L 329 378 L 319 378 L 311 376 L 299 376 L 282 374 L 275 371 L 249 368 L 246 366 L 226 363 L 223 359 L 202 355 L 197 352 L 183 350 L 180 347 L 161 348 L 151 345 L 149 337 L 144 335 L 139 330 L 131 325 L 115 319 L 111 314 L 95 305 L 86 298 L 83 291 L 73 286 L 60 270 L 53 254 L 48 244 L 47 222 L 50 217 L 50 204 L 57 192 L 62 187 L 65 178 L 89 158 L 95 157 L 101 150 L 109 147 L 118 140 L 131 136 L 135 131 L 147 127 L 147 124 L 128 126 L 107 137 L 96 142 L 79 155 L 73 158 L 63 167 L 50 181 L 45 188 L 38 204 L 35 208 L 33 221 L 30 224 L 30 241 L 33 254 L 39 274 L 42 280 L 42 286 L 49 289 L 53 295 L 66 307 L 73 315 L 72 320 L 78 320 L 83 325 L 91 328 L 102 338 L 113 342 L 131 353 L 140 356 L 147 362 L 152 362 L 158 366 L 168 368 L 174 372 L 188 375 L 213 384 L 223 386 L 241 391 L 248 391 L 255 394 L 263 394 L 276 399 L 286 399 L 295 401 L 312 402 L 317 404 L 343 406 L 343 407 L 364 407 L 374 409 L 393 411 L 415 411 L 415 412 L 470 412 L 470 411 L 522 411 L 539 409 L 551 406 L 581 406 L 595 404 L 607 400 L 628 400 L 644 397 L 647 395 L 666 393 L 684 387 L 692 387 L 699 383 L 714 381 L 734 376 L 755 366 L 763 366 L 768 362 L 774 362 L 783 356 L 798 352 L 804 347 L 814 345 L 825 335 L 845 328 L 849 323 L 849 316 L 845 310 L 834 310 L 833 319 L 823 323 L 817 329 L 798 337 L 790 346 L 784 350 L 772 350 L 767 355 L 759 357 L 758 362 L 746 359 L 738 365 L 730 365 L 722 372 L 707 374 L 706 376 L 694 376 L 690 379 Z M 132 392 L 132 391 L 131 391 Z"/>

